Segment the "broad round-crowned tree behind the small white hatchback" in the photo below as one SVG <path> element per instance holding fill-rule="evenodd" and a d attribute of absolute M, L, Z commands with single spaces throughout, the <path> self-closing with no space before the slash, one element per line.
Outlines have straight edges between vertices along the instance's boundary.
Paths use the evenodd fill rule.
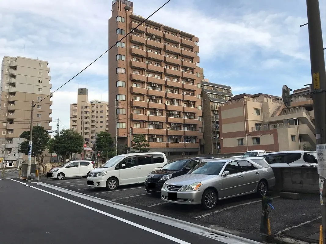
<path fill-rule="evenodd" d="M 55 134 L 49 141 L 49 152 L 56 152 L 63 157 L 63 161 L 73 153 L 82 153 L 84 138 L 72 129 L 63 129 L 59 134 Z"/>

